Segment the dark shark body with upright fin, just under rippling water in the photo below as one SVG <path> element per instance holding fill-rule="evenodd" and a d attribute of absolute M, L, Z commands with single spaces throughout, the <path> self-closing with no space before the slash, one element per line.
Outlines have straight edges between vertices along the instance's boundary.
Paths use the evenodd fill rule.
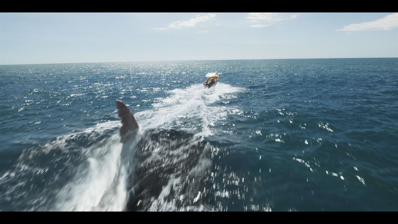
<path fill-rule="evenodd" d="M 128 168 L 126 211 L 211 210 L 206 173 L 209 143 L 176 130 L 145 130 L 120 100 L 121 159 Z M 208 175 L 207 175 L 208 176 Z"/>

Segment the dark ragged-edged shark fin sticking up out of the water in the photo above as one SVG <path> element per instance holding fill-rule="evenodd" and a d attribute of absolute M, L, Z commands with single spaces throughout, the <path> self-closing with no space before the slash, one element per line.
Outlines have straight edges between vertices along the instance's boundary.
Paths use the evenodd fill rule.
<path fill-rule="evenodd" d="M 138 124 L 135 120 L 131 110 L 121 102 L 116 100 L 117 109 L 119 109 L 119 117 L 122 118 L 123 126 L 120 128 L 121 141 L 126 142 L 131 137 L 131 134 L 135 134 L 138 130 Z"/>

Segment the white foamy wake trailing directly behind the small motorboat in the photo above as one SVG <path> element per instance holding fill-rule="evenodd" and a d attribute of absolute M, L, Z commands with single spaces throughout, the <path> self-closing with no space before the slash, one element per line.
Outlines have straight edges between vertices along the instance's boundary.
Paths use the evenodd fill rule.
<path fill-rule="evenodd" d="M 226 106 L 214 106 L 215 102 L 222 99 L 235 97 L 243 88 L 233 87 L 228 84 L 218 83 L 211 88 L 201 84 L 191 85 L 187 88 L 178 88 L 167 91 L 171 96 L 164 98 L 159 103 L 153 104 L 152 110 L 135 114 L 144 128 L 172 128 L 179 126 L 188 131 L 199 131 L 197 135 L 213 135 L 210 127 L 214 122 L 222 120 L 227 115 Z M 197 122 L 193 122 L 197 120 Z"/>

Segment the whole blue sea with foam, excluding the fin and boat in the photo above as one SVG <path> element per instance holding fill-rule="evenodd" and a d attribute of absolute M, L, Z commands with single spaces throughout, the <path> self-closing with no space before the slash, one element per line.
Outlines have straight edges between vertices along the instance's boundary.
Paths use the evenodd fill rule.
<path fill-rule="evenodd" d="M 2 65 L 0 77 L 1 211 L 398 210 L 397 58 Z M 131 145 L 116 99 L 140 126 Z"/>

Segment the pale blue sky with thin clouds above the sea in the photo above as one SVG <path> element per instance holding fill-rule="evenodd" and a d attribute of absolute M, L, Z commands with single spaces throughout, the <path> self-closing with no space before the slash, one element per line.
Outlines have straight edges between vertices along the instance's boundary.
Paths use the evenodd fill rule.
<path fill-rule="evenodd" d="M 0 65 L 398 57 L 398 13 L 0 13 Z"/>

